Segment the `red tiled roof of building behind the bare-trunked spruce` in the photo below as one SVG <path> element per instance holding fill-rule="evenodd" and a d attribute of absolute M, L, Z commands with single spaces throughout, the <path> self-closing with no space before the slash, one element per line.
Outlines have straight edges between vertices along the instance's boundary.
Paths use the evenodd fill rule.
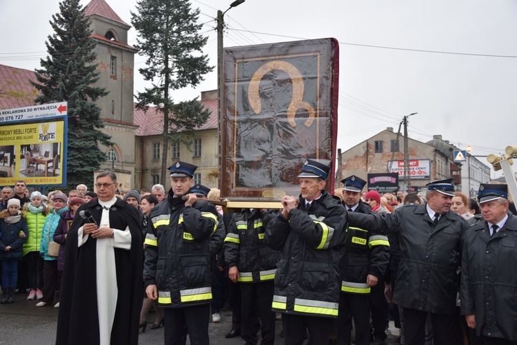
<path fill-rule="evenodd" d="M 203 105 L 210 111 L 210 116 L 204 125 L 197 127 L 196 130 L 217 129 L 218 112 L 217 100 L 203 101 Z M 163 134 L 163 113 L 157 112 L 156 107 L 149 107 L 147 112 L 134 108 L 133 121 L 139 126 L 134 131 L 135 136 L 156 136 Z"/>

